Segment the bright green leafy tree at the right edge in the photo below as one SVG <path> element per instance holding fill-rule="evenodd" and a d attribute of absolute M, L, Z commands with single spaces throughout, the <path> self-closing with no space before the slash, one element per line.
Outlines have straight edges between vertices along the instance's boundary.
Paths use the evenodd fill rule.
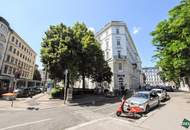
<path fill-rule="evenodd" d="M 161 21 L 151 35 L 161 77 L 176 84 L 186 79 L 190 87 L 190 0 L 182 0 L 171 9 L 169 18 Z"/>

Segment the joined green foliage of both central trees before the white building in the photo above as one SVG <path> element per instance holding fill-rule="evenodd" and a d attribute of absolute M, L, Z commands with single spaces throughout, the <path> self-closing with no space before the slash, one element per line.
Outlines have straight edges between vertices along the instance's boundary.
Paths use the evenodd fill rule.
<path fill-rule="evenodd" d="M 64 79 L 64 71 L 68 69 L 69 82 L 74 84 L 81 76 L 83 88 L 85 77 L 97 82 L 111 81 L 112 73 L 100 44 L 84 23 L 72 27 L 63 24 L 50 26 L 42 41 L 41 58 L 54 79 Z"/>

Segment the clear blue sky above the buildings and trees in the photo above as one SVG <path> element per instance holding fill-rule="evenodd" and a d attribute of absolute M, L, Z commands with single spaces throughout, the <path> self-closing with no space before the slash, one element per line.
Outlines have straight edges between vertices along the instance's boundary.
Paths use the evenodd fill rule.
<path fill-rule="evenodd" d="M 0 0 L 0 16 L 37 52 L 49 25 L 63 22 L 72 26 L 84 22 L 100 30 L 111 20 L 127 23 L 142 60 L 142 66 L 154 66 L 150 32 L 168 10 L 180 0 Z"/>

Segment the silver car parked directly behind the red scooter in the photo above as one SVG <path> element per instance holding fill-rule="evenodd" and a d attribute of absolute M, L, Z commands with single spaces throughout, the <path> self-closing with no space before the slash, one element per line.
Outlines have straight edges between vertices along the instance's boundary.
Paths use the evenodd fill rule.
<path fill-rule="evenodd" d="M 139 91 L 131 98 L 127 99 L 123 110 L 128 111 L 132 106 L 139 106 L 145 113 L 148 113 L 151 108 L 159 106 L 159 96 L 155 91 Z"/>

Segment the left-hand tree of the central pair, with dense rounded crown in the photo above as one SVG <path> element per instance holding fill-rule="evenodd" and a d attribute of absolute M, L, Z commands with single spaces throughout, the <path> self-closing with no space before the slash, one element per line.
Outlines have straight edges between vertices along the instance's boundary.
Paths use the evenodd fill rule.
<path fill-rule="evenodd" d="M 41 60 L 47 66 L 50 77 L 63 80 L 66 69 L 71 83 L 78 79 L 77 49 L 78 43 L 73 39 L 73 31 L 64 24 L 50 26 L 42 41 Z"/>

